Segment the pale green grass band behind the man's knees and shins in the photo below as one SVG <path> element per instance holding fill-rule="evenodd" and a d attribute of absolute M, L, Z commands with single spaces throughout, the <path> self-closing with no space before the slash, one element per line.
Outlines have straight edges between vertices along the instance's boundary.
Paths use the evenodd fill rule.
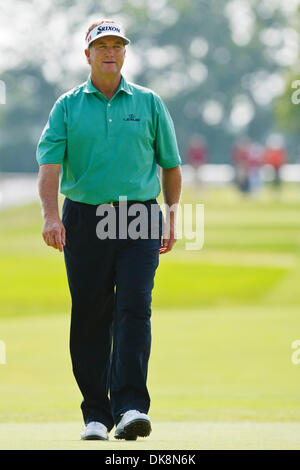
<path fill-rule="evenodd" d="M 69 316 L 1 322 L 0 421 L 81 420 L 68 352 Z M 166 421 L 300 421 L 291 343 L 298 310 L 157 310 L 149 364 L 151 414 Z"/>

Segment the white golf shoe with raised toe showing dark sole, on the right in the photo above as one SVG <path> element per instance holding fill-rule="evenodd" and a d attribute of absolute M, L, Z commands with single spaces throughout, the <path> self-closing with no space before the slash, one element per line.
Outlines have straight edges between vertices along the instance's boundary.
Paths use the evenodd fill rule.
<path fill-rule="evenodd" d="M 129 410 L 123 414 L 116 427 L 115 438 L 135 441 L 138 436 L 146 437 L 151 432 L 149 416 L 137 410 Z"/>

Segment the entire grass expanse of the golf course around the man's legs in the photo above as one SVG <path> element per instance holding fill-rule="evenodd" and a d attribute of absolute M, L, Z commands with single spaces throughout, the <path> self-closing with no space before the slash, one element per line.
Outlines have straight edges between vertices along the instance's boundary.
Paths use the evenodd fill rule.
<path fill-rule="evenodd" d="M 62 201 L 60 201 L 62 202 Z M 1 449 L 300 447 L 299 188 L 244 198 L 185 190 L 204 203 L 205 244 L 161 257 L 149 363 L 153 432 L 80 442 L 62 254 L 41 239 L 39 204 L 0 212 Z M 300 355 L 298 356 L 300 359 Z M 107 447 L 106 447 L 107 446 Z"/>

